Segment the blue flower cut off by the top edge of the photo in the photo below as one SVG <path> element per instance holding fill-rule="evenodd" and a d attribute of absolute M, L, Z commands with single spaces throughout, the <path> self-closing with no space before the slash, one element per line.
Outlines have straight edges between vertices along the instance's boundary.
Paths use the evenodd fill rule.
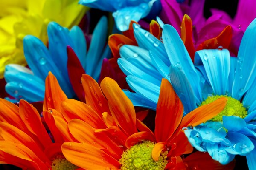
<path fill-rule="evenodd" d="M 147 16 L 150 19 L 156 17 L 162 8 L 160 0 L 80 0 L 79 3 L 113 12 L 116 27 L 120 31 L 128 30 L 131 20 L 138 22 Z"/>

